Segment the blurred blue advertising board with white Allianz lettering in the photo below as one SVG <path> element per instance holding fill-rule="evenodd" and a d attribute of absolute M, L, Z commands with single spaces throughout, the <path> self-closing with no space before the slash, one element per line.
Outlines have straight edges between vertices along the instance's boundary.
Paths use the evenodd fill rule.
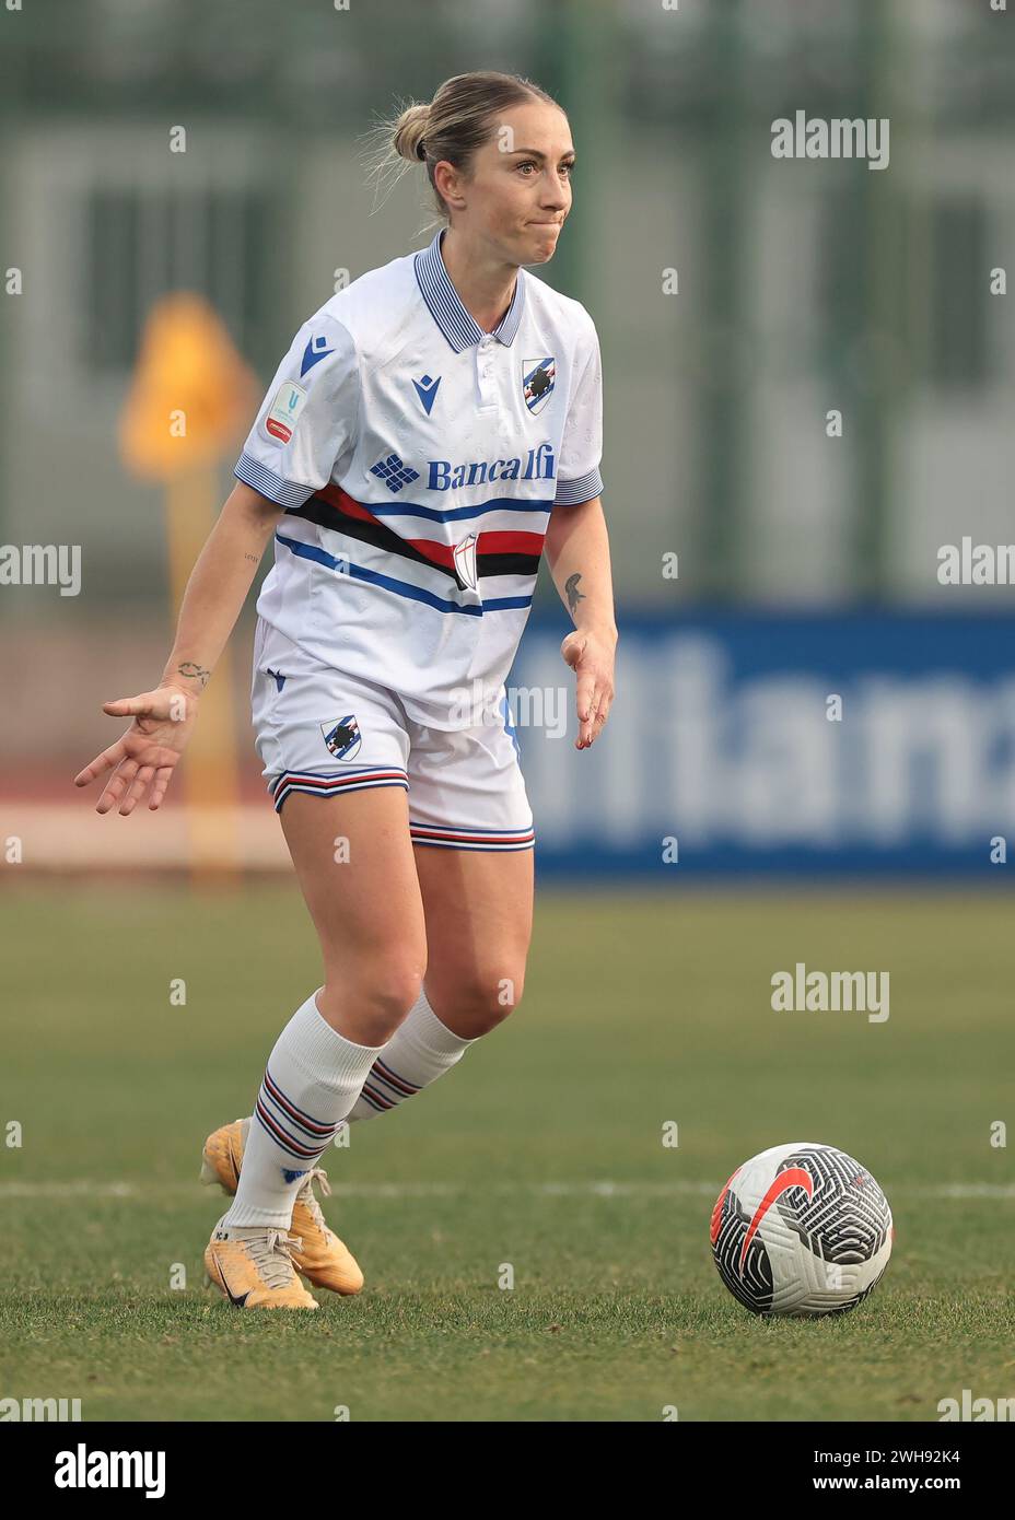
<path fill-rule="evenodd" d="M 562 617 L 533 614 L 508 682 L 539 877 L 1007 879 L 1015 617 L 618 610 L 618 626 L 591 749 Z"/>

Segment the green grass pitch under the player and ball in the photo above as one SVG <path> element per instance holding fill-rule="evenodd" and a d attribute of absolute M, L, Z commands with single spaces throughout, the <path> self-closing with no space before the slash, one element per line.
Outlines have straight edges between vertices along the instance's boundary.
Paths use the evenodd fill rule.
<path fill-rule="evenodd" d="M 933 1421 L 963 1388 L 1009 1397 L 1010 914 L 541 891 L 520 1009 L 324 1160 L 363 1294 L 245 1315 L 202 1286 L 225 1199 L 198 1169 L 319 985 L 295 883 L 8 891 L 0 1394 L 85 1421 Z M 773 1012 L 798 961 L 887 970 L 889 1020 Z M 711 1262 L 716 1192 L 787 1140 L 849 1151 L 892 1202 L 889 1271 L 842 1318 L 755 1319 Z"/>

